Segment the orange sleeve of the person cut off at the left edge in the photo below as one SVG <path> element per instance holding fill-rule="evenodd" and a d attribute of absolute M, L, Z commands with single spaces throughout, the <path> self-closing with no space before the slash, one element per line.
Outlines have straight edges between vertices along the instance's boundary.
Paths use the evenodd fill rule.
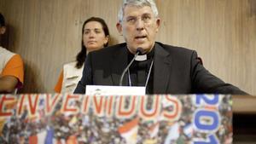
<path fill-rule="evenodd" d="M 14 76 L 18 78 L 17 88 L 22 87 L 24 83 L 24 66 L 20 55 L 14 55 L 4 66 L 2 76 Z"/>

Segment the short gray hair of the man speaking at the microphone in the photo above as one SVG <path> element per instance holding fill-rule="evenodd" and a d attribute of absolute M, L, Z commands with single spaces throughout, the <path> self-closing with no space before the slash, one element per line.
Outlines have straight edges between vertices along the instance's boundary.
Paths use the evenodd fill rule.
<path fill-rule="evenodd" d="M 124 9 L 127 5 L 136 6 L 136 7 L 143 7 L 149 6 L 154 14 L 154 17 L 158 17 L 158 9 L 154 0 L 123 0 L 122 7 L 119 9 L 118 19 L 119 22 L 122 22 L 124 16 Z"/>

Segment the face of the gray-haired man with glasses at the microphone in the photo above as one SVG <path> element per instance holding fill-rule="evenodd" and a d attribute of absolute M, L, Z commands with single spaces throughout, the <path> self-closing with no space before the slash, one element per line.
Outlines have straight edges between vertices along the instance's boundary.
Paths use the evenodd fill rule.
<path fill-rule="evenodd" d="M 135 54 L 137 48 L 148 53 L 154 46 L 155 35 L 159 30 L 160 18 L 155 18 L 150 7 L 126 6 L 122 23 L 117 24 L 128 49 Z"/>

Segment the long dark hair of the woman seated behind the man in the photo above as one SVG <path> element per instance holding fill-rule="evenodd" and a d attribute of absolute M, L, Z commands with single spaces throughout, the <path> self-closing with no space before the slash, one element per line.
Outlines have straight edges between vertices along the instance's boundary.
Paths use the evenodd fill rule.
<path fill-rule="evenodd" d="M 82 35 L 84 34 L 84 26 L 90 21 L 97 21 L 97 22 L 101 23 L 105 36 L 109 36 L 108 26 L 107 26 L 105 20 L 103 20 L 102 18 L 99 18 L 99 17 L 90 17 L 89 19 L 84 21 L 84 24 L 82 27 L 83 28 Z M 108 43 L 104 44 L 104 47 L 107 47 L 107 46 L 108 46 Z M 84 60 L 86 58 L 86 53 L 87 52 L 86 52 L 86 48 L 84 46 L 83 37 L 82 37 L 81 50 L 80 50 L 79 54 L 77 55 L 77 64 L 76 64 L 77 68 L 81 68 L 83 66 Z"/>

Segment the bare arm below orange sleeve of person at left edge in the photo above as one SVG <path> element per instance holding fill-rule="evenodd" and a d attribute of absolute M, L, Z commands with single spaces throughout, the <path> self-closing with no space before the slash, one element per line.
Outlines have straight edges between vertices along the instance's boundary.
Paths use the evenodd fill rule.
<path fill-rule="evenodd" d="M 13 76 L 3 76 L 0 78 L 0 93 L 11 93 L 14 91 L 18 79 Z"/>

